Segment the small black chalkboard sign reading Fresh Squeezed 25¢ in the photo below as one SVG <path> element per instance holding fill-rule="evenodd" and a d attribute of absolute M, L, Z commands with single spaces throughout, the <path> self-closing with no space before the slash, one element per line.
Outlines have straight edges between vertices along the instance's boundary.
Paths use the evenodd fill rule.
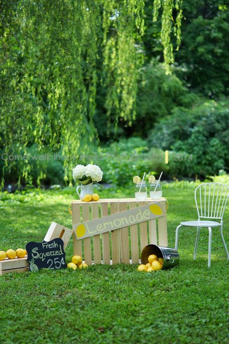
<path fill-rule="evenodd" d="M 28 254 L 29 271 L 39 269 L 63 269 L 67 267 L 65 261 L 64 242 L 60 238 L 51 241 L 35 242 L 26 244 Z"/>

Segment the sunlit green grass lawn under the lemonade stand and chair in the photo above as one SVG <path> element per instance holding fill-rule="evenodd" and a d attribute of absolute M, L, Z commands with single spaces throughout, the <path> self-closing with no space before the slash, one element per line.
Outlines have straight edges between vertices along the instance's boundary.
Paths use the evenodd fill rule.
<path fill-rule="evenodd" d="M 194 183 L 164 187 L 171 247 L 177 224 L 196 219 L 194 189 Z M 130 191 L 100 194 L 125 197 Z M 75 197 L 75 189 L 0 194 L 0 250 L 42 241 L 52 221 L 71 228 L 68 205 Z M 224 220 L 229 246 L 229 210 Z M 120 264 L 1 276 L 0 343 L 229 343 L 229 262 L 213 229 L 207 268 L 207 232 L 200 232 L 194 262 L 196 229 L 183 228 L 178 267 L 152 274 Z M 72 239 L 66 260 L 71 256 Z"/>

